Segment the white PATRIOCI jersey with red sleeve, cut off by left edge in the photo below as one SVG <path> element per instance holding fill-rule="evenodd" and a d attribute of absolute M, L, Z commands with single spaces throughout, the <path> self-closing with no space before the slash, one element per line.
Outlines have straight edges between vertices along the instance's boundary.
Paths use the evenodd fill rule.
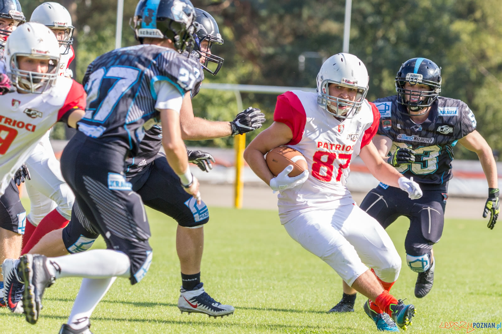
<path fill-rule="evenodd" d="M 47 130 L 75 108 L 85 110 L 85 92 L 65 77 L 43 94 L 0 95 L 0 195 Z"/>

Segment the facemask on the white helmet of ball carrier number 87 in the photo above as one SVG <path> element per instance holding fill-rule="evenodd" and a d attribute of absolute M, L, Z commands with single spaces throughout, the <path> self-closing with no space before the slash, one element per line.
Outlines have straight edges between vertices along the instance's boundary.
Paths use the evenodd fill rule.
<path fill-rule="evenodd" d="M 355 101 L 329 95 L 330 84 L 355 89 Z M 320 92 L 317 95 L 317 104 L 335 117 L 353 118 L 361 109 L 367 92 L 368 88 L 357 86 L 357 82 L 345 79 L 342 79 L 342 82 L 325 79 L 322 81 Z"/>

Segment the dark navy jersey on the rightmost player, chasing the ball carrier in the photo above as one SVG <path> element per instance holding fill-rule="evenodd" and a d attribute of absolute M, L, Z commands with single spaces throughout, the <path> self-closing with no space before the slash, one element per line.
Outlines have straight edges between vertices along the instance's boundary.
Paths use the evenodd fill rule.
<path fill-rule="evenodd" d="M 397 95 L 375 100 L 374 104 L 380 111 L 377 134 L 392 139 L 389 156 L 398 147 L 416 152 L 415 162 L 399 165 L 398 171 L 420 183 L 439 185 L 451 179 L 453 146 L 476 129 L 474 114 L 465 103 L 440 96 L 422 124 L 415 124 L 401 112 L 406 112 L 406 107 L 397 103 Z"/>

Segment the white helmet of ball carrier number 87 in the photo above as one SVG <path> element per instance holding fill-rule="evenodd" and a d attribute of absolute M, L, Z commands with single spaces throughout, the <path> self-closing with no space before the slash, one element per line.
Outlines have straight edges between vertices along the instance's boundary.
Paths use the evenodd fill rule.
<path fill-rule="evenodd" d="M 317 75 L 317 104 L 336 117 L 352 118 L 364 103 L 368 81 L 368 71 L 359 58 L 345 53 L 331 56 L 322 64 Z M 355 101 L 329 95 L 329 84 L 356 89 Z M 342 106 L 350 109 L 340 109 Z"/>

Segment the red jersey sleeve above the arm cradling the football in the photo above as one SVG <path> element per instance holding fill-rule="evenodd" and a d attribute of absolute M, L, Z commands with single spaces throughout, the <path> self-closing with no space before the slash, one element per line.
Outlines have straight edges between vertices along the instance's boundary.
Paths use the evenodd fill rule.
<path fill-rule="evenodd" d="M 274 121 L 286 124 L 293 132 L 293 139 L 286 145 L 295 145 L 300 142 L 307 115 L 300 99 L 293 92 L 286 92 L 277 97 Z"/>

